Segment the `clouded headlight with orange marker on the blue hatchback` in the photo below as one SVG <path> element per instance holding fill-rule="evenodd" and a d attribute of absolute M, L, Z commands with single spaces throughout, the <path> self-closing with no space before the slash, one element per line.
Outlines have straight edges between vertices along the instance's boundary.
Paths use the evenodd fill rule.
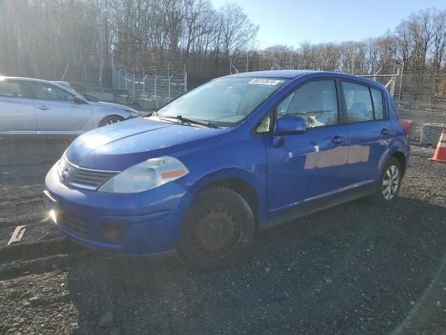
<path fill-rule="evenodd" d="M 100 186 L 106 193 L 139 193 L 157 188 L 189 173 L 189 170 L 170 156 L 151 158 L 133 165 Z"/>

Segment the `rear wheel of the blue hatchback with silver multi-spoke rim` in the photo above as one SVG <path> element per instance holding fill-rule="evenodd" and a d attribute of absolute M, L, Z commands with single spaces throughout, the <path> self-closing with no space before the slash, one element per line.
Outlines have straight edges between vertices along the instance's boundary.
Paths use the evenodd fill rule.
<path fill-rule="evenodd" d="M 398 196 L 402 177 L 401 164 L 397 158 L 390 157 L 384 165 L 376 191 L 369 200 L 378 206 L 390 206 Z"/>

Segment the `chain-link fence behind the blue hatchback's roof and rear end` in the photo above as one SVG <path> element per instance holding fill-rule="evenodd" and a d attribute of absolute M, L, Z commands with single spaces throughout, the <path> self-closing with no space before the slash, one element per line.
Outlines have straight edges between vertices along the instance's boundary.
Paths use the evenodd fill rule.
<path fill-rule="evenodd" d="M 347 62 L 348 63 L 348 62 Z M 383 84 L 399 107 L 401 117 L 411 120 L 411 140 L 419 140 L 421 144 L 436 145 L 443 129 L 446 128 L 446 73 L 433 70 L 404 70 L 394 66 L 393 73 L 376 75 L 358 74 L 354 64 L 351 68 L 318 68 L 309 62 L 285 61 L 271 59 L 250 60 L 249 57 L 231 59 L 230 72 L 246 70 L 286 70 L 289 68 L 302 70 L 328 70 L 334 72 L 354 73 Z"/>

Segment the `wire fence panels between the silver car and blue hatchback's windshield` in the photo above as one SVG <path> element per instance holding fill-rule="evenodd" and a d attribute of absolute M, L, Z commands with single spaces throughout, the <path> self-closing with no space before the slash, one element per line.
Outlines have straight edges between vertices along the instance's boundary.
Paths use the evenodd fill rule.
<path fill-rule="evenodd" d="M 113 87 L 121 91 L 118 101 L 155 110 L 187 91 L 187 73 L 181 66 L 112 68 Z"/>

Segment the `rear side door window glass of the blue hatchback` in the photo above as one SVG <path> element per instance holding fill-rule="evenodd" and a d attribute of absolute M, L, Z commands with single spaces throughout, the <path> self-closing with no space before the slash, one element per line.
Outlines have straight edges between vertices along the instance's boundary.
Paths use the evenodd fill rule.
<path fill-rule="evenodd" d="M 374 119 L 369 87 L 353 82 L 342 82 L 346 103 L 347 122 L 370 121 Z"/>

